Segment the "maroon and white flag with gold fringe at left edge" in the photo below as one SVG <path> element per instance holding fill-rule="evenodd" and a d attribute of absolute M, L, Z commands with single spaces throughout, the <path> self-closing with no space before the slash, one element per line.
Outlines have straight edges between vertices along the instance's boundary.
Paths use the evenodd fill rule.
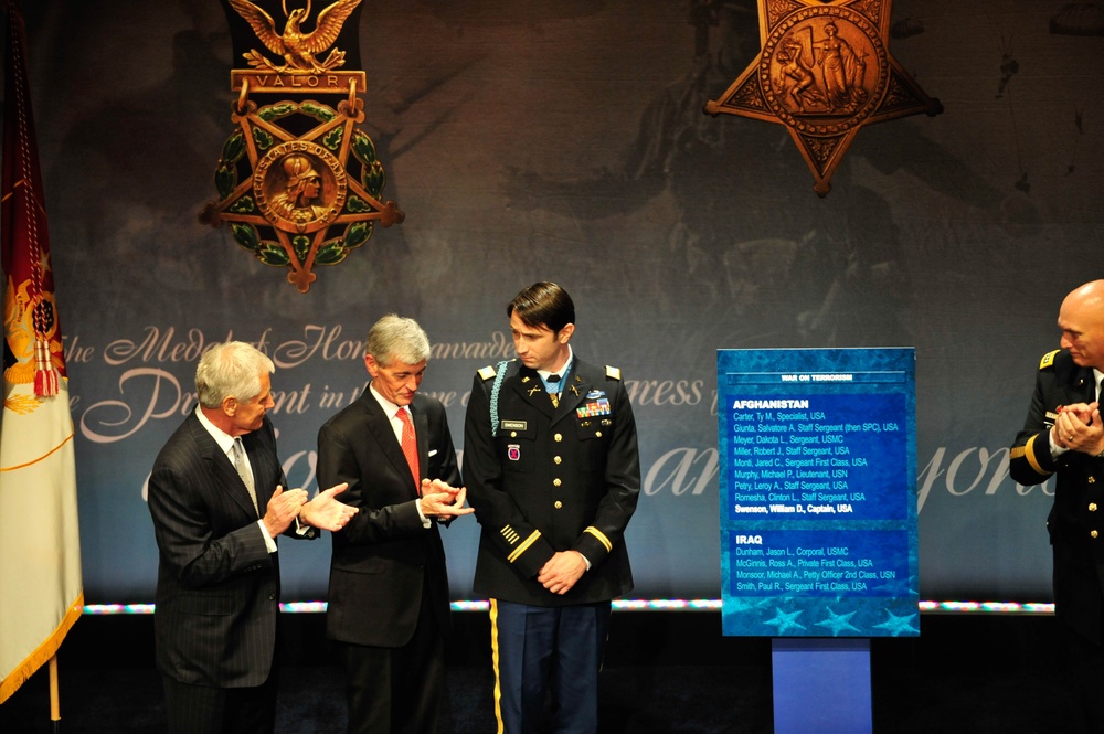
<path fill-rule="evenodd" d="M 7 0 L 0 421 L 0 702 L 57 652 L 81 615 L 68 380 L 28 89 L 25 29 Z"/>

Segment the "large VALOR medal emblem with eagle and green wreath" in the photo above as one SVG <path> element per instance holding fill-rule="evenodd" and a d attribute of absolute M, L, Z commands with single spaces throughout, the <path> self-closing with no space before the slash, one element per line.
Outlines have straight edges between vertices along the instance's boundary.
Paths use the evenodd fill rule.
<path fill-rule="evenodd" d="M 343 260 L 376 223 L 404 219 L 393 201 L 381 199 L 383 164 L 357 128 L 364 121 L 365 74 L 341 71 L 349 54 L 359 58 L 360 0 L 322 8 L 309 32 L 302 25 L 310 0 L 290 12 L 287 0 L 227 2 L 235 55 L 248 68 L 231 71 L 237 129 L 215 168 L 219 199 L 200 220 L 227 223 L 238 245 L 266 265 L 286 267 L 288 281 L 307 292 L 315 266 Z M 278 10 L 283 30 L 274 20 Z"/>

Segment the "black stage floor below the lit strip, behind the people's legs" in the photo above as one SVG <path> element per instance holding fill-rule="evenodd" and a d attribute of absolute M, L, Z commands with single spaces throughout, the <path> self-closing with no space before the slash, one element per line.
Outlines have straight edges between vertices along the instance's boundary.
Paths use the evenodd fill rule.
<path fill-rule="evenodd" d="M 495 731 L 488 621 L 454 614 L 440 734 Z M 874 732 L 1073 734 L 1050 616 L 924 615 L 919 638 L 871 641 Z M 318 614 L 283 616 L 277 732 L 344 731 L 343 683 Z M 619 611 L 599 702 L 602 732 L 769 734 L 771 641 L 724 638 L 710 611 Z M 82 618 L 62 647 L 62 731 L 164 730 L 152 618 Z M 50 731 L 45 669 L 0 705 L 0 732 Z"/>

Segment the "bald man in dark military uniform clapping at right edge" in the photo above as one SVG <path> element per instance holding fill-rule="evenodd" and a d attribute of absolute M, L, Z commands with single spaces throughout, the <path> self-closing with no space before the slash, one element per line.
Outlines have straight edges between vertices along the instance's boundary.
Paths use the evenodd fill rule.
<path fill-rule="evenodd" d="M 1104 280 L 1062 301 L 1061 350 L 1042 358 L 1009 474 L 1030 486 L 1058 475 L 1047 519 L 1054 555 L 1054 611 L 1065 637 L 1071 688 L 1087 732 L 1104 733 Z"/>

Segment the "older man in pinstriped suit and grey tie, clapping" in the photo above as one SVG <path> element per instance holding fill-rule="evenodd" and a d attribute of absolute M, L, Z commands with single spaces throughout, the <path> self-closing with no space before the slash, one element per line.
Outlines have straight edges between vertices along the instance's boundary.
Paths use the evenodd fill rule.
<path fill-rule="evenodd" d="M 195 370 L 199 407 L 158 454 L 149 511 L 159 565 L 153 617 L 169 732 L 272 732 L 276 719 L 276 538 L 314 538 L 357 513 L 332 487 L 288 489 L 265 417 L 273 362 L 217 344 Z"/>

